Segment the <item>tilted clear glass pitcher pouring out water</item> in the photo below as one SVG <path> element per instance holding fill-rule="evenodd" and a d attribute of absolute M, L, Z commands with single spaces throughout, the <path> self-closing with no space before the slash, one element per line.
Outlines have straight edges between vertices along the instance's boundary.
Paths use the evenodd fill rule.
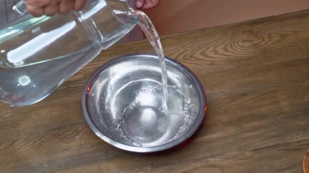
<path fill-rule="evenodd" d="M 23 16 L 0 30 L 0 98 L 32 105 L 52 93 L 138 22 L 126 0 L 89 0 L 80 12 Z"/>

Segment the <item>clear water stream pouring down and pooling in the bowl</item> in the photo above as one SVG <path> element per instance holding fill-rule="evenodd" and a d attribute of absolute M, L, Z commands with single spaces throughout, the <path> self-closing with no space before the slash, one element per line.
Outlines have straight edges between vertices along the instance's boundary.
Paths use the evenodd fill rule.
<path fill-rule="evenodd" d="M 145 81 L 142 84 L 144 88 L 140 91 L 143 92 L 123 109 L 117 129 L 120 136 L 134 146 L 158 146 L 173 141 L 187 132 L 194 122 L 194 118 L 190 116 L 192 109 L 196 112 L 198 106 L 192 104 L 190 98 L 176 86 L 168 85 L 165 56 L 159 34 L 145 13 L 135 11 L 135 15 L 140 17 L 139 26 L 159 57 L 162 83 Z M 156 102 L 153 101 L 156 99 L 150 98 L 160 98 L 161 104 L 145 103 Z M 170 129 L 173 129 L 173 132 Z M 175 129 L 177 132 L 174 132 Z"/>

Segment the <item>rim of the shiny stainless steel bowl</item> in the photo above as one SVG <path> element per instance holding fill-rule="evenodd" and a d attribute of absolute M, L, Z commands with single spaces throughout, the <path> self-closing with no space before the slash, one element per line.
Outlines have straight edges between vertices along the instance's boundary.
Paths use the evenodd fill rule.
<path fill-rule="evenodd" d="M 199 96 L 199 100 L 200 100 L 199 114 L 198 114 L 195 122 L 192 124 L 192 127 L 187 131 L 186 134 L 182 135 L 180 138 L 177 138 L 174 141 L 171 141 L 171 142 L 168 142 L 166 144 L 159 145 L 159 146 L 154 146 L 154 147 L 130 146 L 130 145 L 119 143 L 119 142 L 114 141 L 114 140 L 110 139 L 109 137 L 105 136 L 97 128 L 95 123 L 92 122 L 90 115 L 88 114 L 88 110 L 87 110 L 87 106 L 86 106 L 87 95 L 88 95 L 89 91 L 91 90 L 92 84 L 95 83 L 96 79 L 100 76 L 100 74 L 113 65 L 116 65 L 118 63 L 128 61 L 128 60 L 139 59 L 141 57 L 143 57 L 143 59 L 145 59 L 145 57 L 147 57 L 148 59 L 151 59 L 151 60 L 158 60 L 158 56 L 156 54 L 148 54 L 148 53 L 147 54 L 143 54 L 143 53 L 128 54 L 128 55 L 124 55 L 124 56 L 114 58 L 114 59 L 106 62 L 101 67 L 99 67 L 94 73 L 92 73 L 90 78 L 86 82 L 86 85 L 85 85 L 85 87 L 82 91 L 82 98 L 81 98 L 82 113 L 83 113 L 84 118 L 85 118 L 86 122 L 88 123 L 90 129 L 100 139 L 102 139 L 103 141 L 107 142 L 108 144 L 110 144 L 110 145 L 112 145 L 116 148 L 126 150 L 126 151 L 131 151 L 131 152 L 138 152 L 138 153 L 151 153 L 151 152 L 158 152 L 158 151 L 167 150 L 167 149 L 175 147 L 175 146 L 181 144 L 182 142 L 186 141 L 197 131 L 197 129 L 200 127 L 201 123 L 204 120 L 204 117 L 205 117 L 205 114 L 206 114 L 206 109 L 207 109 L 206 95 L 205 95 L 205 92 L 204 92 L 204 89 L 203 89 L 203 85 L 201 84 L 199 79 L 196 77 L 196 75 L 189 68 L 187 68 L 186 66 L 184 66 L 183 64 L 181 64 L 180 62 L 178 62 L 178 61 L 176 61 L 172 58 L 165 57 L 166 64 L 174 66 L 175 68 L 179 69 L 181 72 L 187 74 L 189 76 L 189 78 L 191 78 L 193 80 L 194 84 L 196 85 L 196 90 L 198 92 L 198 96 Z"/>

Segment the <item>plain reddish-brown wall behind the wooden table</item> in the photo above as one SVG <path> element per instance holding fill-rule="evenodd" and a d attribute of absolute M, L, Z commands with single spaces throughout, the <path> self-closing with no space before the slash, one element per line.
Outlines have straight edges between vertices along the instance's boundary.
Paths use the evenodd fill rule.
<path fill-rule="evenodd" d="M 309 0 L 161 0 L 145 12 L 164 35 L 305 9 Z"/>

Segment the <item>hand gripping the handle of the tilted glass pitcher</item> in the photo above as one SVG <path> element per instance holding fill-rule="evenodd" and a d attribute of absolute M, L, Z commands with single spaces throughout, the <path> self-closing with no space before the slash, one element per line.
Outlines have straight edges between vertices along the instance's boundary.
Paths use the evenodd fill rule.
<path fill-rule="evenodd" d="M 25 0 L 27 12 L 35 17 L 67 14 L 71 10 L 80 11 L 87 0 Z"/>

